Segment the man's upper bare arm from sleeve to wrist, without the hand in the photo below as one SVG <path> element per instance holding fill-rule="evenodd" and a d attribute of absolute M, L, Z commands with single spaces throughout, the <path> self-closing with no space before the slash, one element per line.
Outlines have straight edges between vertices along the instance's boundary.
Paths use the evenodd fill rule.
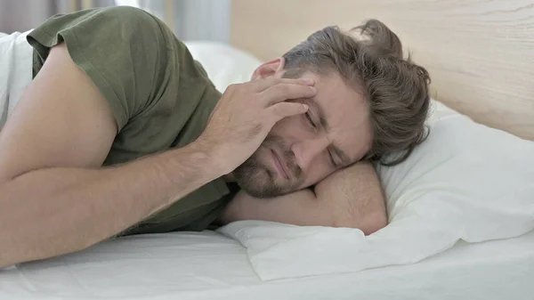
<path fill-rule="evenodd" d="M 116 133 L 101 93 L 53 48 L 0 135 L 0 267 L 89 247 L 223 174 L 199 144 L 100 168 Z"/>

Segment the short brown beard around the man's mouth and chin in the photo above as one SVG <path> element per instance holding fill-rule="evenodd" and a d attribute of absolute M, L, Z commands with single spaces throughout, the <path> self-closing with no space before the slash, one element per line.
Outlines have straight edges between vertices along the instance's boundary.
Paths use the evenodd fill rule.
<path fill-rule="evenodd" d="M 281 156 L 287 165 L 287 177 L 279 176 L 272 165 L 272 150 Z M 267 135 L 258 150 L 238 166 L 233 176 L 239 187 L 255 198 L 273 198 L 298 191 L 303 184 L 303 171 L 295 163 L 295 155 L 286 149 L 281 138 Z"/>

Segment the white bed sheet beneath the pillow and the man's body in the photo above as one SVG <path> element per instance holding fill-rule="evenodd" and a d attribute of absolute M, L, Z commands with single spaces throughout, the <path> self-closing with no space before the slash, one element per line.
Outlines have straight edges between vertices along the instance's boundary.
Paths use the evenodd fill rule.
<path fill-rule="evenodd" d="M 127 237 L 0 271 L 0 299 L 533 299 L 534 232 L 455 247 L 418 264 L 262 281 L 213 231 Z"/>

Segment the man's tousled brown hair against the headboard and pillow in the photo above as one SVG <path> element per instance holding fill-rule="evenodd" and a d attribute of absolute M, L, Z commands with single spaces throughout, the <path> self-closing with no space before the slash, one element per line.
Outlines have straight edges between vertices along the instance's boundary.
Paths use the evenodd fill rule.
<path fill-rule="evenodd" d="M 410 56 L 403 58 L 401 40 L 379 20 L 368 20 L 346 33 L 336 26 L 323 28 L 284 54 L 284 59 L 284 77 L 335 70 L 349 86 L 363 89 L 373 128 L 371 150 L 364 159 L 396 165 L 425 140 L 430 77 Z M 393 153 L 401 155 L 386 162 Z"/>

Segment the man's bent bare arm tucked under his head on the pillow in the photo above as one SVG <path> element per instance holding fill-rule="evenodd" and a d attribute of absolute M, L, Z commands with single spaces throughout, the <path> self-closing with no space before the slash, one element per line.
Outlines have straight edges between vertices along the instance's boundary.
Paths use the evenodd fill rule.
<path fill-rule="evenodd" d="M 273 199 L 255 199 L 239 191 L 221 221 L 239 220 L 350 227 L 371 234 L 387 224 L 387 215 L 376 171 L 361 162 L 329 175 L 314 191 L 306 189 Z"/>

